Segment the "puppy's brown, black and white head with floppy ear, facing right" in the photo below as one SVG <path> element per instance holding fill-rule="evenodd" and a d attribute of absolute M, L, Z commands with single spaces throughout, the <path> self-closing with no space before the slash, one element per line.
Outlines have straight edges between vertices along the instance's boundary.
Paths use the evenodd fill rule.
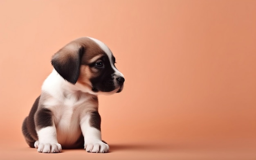
<path fill-rule="evenodd" d="M 124 87 L 111 50 L 94 38 L 70 42 L 53 55 L 52 65 L 63 79 L 91 94 L 112 94 Z"/>

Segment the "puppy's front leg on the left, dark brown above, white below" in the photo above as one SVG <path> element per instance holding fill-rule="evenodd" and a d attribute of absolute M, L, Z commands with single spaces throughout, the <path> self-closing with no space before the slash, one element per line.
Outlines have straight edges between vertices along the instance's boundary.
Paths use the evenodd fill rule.
<path fill-rule="evenodd" d="M 40 108 L 35 116 L 36 132 L 38 135 L 38 152 L 58 153 L 61 145 L 57 141 L 56 127 L 53 122 L 52 112 L 46 108 Z"/>

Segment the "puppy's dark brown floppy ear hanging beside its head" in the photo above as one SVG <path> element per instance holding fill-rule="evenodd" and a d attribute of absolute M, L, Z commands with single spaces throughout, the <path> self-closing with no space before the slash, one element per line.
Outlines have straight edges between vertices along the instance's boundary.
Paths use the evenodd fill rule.
<path fill-rule="evenodd" d="M 83 52 L 82 46 L 68 44 L 52 56 L 52 66 L 61 77 L 75 84 L 79 77 Z"/>

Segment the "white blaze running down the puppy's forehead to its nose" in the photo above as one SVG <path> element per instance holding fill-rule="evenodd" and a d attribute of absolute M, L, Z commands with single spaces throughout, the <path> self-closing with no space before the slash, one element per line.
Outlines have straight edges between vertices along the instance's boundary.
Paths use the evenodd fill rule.
<path fill-rule="evenodd" d="M 99 41 L 98 39 L 95 39 L 95 38 L 92 38 L 92 37 L 88 37 L 88 38 L 92 39 L 95 43 L 97 43 L 99 45 L 99 47 L 108 55 L 110 65 L 115 70 L 115 75 L 124 77 L 124 75 L 121 72 L 119 72 L 119 70 L 117 70 L 117 68 L 115 68 L 115 66 L 113 64 L 114 62 L 112 61 L 112 56 L 113 55 L 112 55 L 111 50 L 108 48 L 108 46 L 106 46 L 106 44 Z"/>

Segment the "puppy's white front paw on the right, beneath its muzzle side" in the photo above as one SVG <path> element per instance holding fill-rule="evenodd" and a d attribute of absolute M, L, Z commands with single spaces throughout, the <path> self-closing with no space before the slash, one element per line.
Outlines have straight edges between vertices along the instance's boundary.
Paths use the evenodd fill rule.
<path fill-rule="evenodd" d="M 100 140 L 85 142 L 84 149 L 87 152 L 92 152 L 92 153 L 107 153 L 107 152 L 109 152 L 108 144 L 106 144 Z"/>

